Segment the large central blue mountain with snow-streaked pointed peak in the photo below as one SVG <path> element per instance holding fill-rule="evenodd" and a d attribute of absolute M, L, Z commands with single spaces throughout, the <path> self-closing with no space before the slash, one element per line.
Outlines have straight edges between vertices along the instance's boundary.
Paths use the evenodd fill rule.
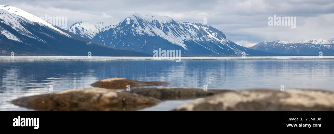
<path fill-rule="evenodd" d="M 153 50 L 159 48 L 181 50 L 183 54 L 241 55 L 243 51 L 249 55 L 269 54 L 239 46 L 209 25 L 178 22 L 166 16 L 142 16 L 138 13 L 130 15 L 108 30 L 102 30 L 92 40 L 113 48 L 147 54 L 152 54 Z"/>

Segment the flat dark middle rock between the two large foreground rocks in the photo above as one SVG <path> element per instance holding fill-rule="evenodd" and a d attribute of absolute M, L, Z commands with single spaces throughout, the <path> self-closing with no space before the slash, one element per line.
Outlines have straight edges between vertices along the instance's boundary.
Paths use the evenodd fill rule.
<path fill-rule="evenodd" d="M 214 94 L 226 93 L 232 90 L 223 89 L 203 89 L 187 88 L 187 87 L 172 87 L 172 88 L 157 88 L 157 87 L 143 87 L 131 89 L 131 93 L 136 93 L 143 96 L 149 96 L 160 100 L 185 100 L 207 97 Z"/>

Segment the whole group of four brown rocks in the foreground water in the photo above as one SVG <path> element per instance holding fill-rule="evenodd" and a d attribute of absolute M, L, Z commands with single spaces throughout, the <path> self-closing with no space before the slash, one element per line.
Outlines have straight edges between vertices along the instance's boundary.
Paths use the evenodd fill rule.
<path fill-rule="evenodd" d="M 164 86 L 168 82 L 110 78 L 92 88 L 21 97 L 13 104 L 41 111 L 134 111 L 166 100 L 189 100 L 174 111 L 333 111 L 334 93 L 325 90 L 225 90 Z M 131 88 L 129 88 L 131 87 Z M 128 89 L 128 90 L 127 90 Z"/>

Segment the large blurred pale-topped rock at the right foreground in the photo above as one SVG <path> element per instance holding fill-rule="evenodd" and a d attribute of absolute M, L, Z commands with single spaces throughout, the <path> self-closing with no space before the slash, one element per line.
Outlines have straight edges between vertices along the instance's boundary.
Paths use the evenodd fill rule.
<path fill-rule="evenodd" d="M 333 111 L 334 93 L 324 90 L 241 90 L 214 95 L 179 111 Z"/>

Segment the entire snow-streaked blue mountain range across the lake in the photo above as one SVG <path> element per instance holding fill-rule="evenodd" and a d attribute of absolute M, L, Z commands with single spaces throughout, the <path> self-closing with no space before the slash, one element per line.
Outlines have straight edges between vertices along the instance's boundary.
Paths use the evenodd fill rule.
<path fill-rule="evenodd" d="M 21 9 L 0 5 L 0 55 L 152 56 L 154 50 L 181 50 L 189 56 L 334 55 L 334 38 L 300 42 L 261 42 L 247 48 L 227 39 L 220 30 L 167 16 L 131 14 L 77 22 L 66 29 Z"/>

